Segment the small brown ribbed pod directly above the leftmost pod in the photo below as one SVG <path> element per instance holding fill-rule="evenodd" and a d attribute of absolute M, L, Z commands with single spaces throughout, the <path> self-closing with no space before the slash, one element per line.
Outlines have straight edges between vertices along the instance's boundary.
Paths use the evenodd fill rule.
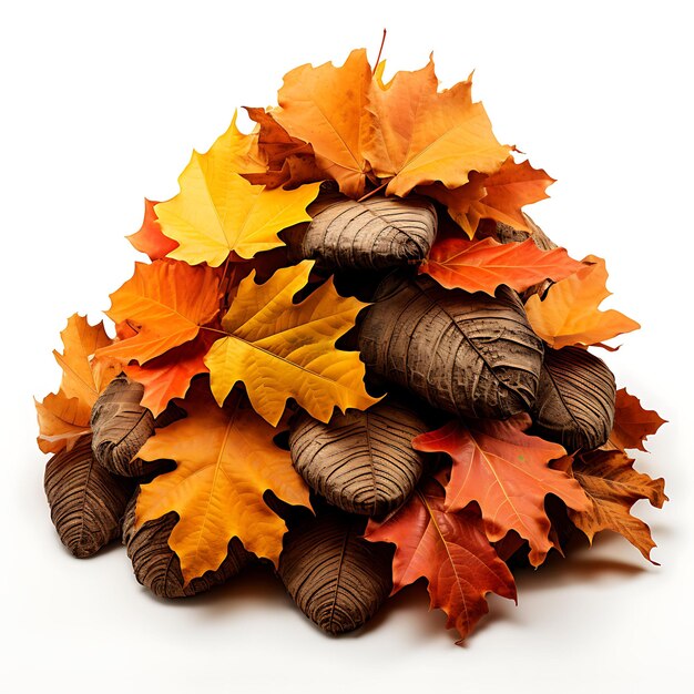
<path fill-rule="evenodd" d="M 99 396 L 92 408 L 92 450 L 106 470 L 125 477 L 155 471 L 157 463 L 137 458 L 137 451 L 154 433 L 152 412 L 140 405 L 144 386 L 121 374 Z"/>

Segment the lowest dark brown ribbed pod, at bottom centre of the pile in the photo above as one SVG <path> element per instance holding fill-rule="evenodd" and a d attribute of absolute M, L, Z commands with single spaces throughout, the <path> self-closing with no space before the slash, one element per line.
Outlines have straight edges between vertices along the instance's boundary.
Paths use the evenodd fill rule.
<path fill-rule="evenodd" d="M 279 576 L 294 602 L 331 634 L 365 624 L 390 593 L 392 550 L 359 535 L 361 519 L 328 512 L 290 530 Z"/>

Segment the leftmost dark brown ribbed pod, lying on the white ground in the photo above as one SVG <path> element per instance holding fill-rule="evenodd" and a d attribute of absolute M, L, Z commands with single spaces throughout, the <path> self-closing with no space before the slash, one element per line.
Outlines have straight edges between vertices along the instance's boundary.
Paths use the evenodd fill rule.
<path fill-rule="evenodd" d="M 48 461 L 44 488 L 51 520 L 74 557 L 91 557 L 120 538 L 132 486 L 96 463 L 91 436 Z"/>

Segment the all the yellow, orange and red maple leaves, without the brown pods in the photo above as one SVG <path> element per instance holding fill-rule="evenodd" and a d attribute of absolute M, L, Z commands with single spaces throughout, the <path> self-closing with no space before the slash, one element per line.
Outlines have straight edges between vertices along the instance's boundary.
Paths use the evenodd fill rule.
<path fill-rule="evenodd" d="M 500 244 L 476 235 L 484 221 L 531 232 L 521 207 L 545 197 L 552 178 L 496 140 L 470 81 L 438 91 L 430 62 L 384 83 L 382 68 L 372 71 L 357 50 L 340 68 L 289 72 L 277 109 L 248 109 L 257 124 L 251 134 L 234 119 L 207 153 L 193 154 L 175 197 L 146 202 L 130 241 L 151 263 L 136 263 L 111 296 L 115 338 L 76 315 L 62 334 L 61 388 L 37 405 L 42 451 L 70 450 L 89 435 L 92 406 L 121 371 L 144 386 L 142 405 L 154 417 L 180 398 L 186 418 L 139 452 L 177 465 L 142 486 L 135 525 L 178 513 L 169 545 L 186 583 L 216 570 L 233 537 L 277 563 L 286 524 L 265 503 L 267 490 L 310 508 L 289 452 L 274 442 L 289 399 L 324 422 L 336 407 L 365 410 L 378 400 L 365 388 L 359 353 L 336 347 L 367 304 L 340 296 L 313 261 L 289 264 L 278 236 L 310 221 L 324 182 L 353 200 L 418 195 L 435 201 L 440 216 L 447 211 L 455 231 L 420 266 L 446 288 L 493 296 L 500 285 L 522 293 L 553 280 L 543 300 L 534 294 L 525 303 L 548 349 L 598 345 L 639 327 L 599 309 L 609 295 L 601 258 L 579 263 L 532 238 Z M 487 611 L 486 593 L 516 596 L 500 554 L 527 541 L 537 567 L 560 549 L 548 493 L 589 539 L 621 532 L 649 558 L 649 529 L 630 508 L 641 498 L 661 506 L 663 483 L 635 472 L 624 451 L 644 450 L 660 423 L 620 390 L 609 442 L 572 467 L 576 451 L 525 433 L 527 416 L 451 421 L 412 441 L 447 453 L 448 463 L 395 514 L 371 520 L 366 538 L 397 545 L 394 591 L 426 578 L 431 604 L 465 637 Z M 514 486 L 522 493 L 510 494 Z"/>

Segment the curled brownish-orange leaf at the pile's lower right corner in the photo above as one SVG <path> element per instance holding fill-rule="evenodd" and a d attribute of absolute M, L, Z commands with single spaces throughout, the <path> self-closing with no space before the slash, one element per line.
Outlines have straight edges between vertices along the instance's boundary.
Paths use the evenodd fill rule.
<path fill-rule="evenodd" d="M 590 508 L 569 509 L 569 518 L 589 541 L 601 530 L 612 530 L 626 538 L 649 561 L 655 542 L 651 530 L 630 509 L 639 499 L 662 508 L 667 501 L 663 479 L 653 480 L 633 469 L 634 461 L 624 451 L 598 449 L 581 455 L 573 462 L 573 476 L 591 501 Z M 655 563 L 655 562 L 653 562 Z"/>

